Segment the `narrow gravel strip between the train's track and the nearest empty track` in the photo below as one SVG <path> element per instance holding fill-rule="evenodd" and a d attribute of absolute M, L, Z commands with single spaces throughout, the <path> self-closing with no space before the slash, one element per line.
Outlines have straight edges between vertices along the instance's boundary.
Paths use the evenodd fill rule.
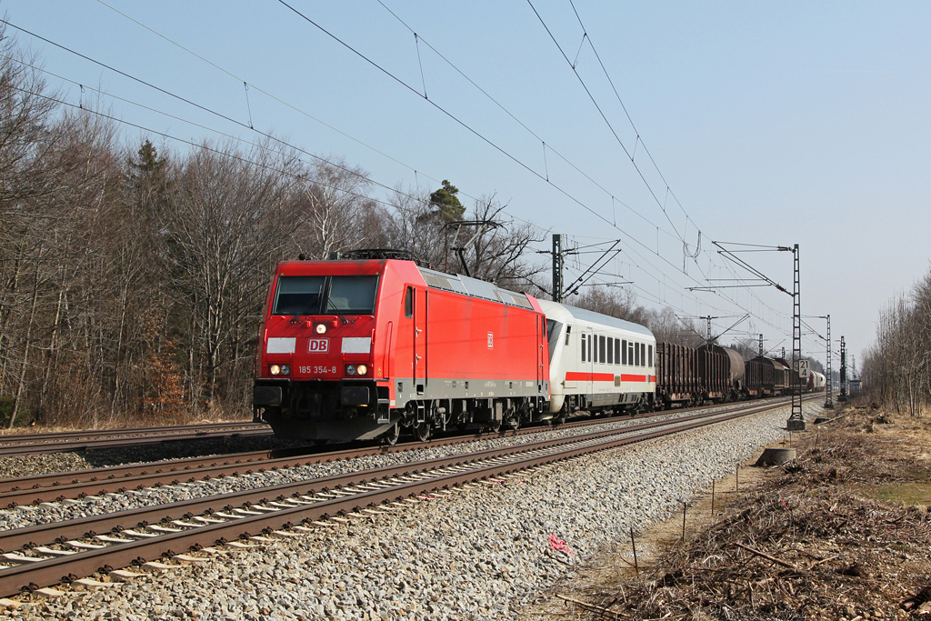
<path fill-rule="evenodd" d="M 681 417 L 681 413 L 670 412 L 651 417 L 650 420 L 669 420 L 674 422 Z M 178 486 L 164 486 L 148 488 L 142 491 L 128 493 L 112 493 L 104 496 L 91 496 L 81 500 L 69 500 L 64 503 L 49 503 L 44 506 L 20 506 L 15 509 L 0 509 L 0 530 L 24 528 L 35 524 L 47 524 L 55 521 L 77 520 L 91 515 L 102 515 L 127 511 L 141 506 L 166 505 L 182 502 L 192 498 L 203 498 L 223 493 L 243 492 L 265 487 L 273 487 L 285 483 L 301 480 L 320 479 L 334 475 L 357 472 L 383 466 L 398 464 L 411 464 L 427 459 L 465 455 L 471 452 L 502 447 L 519 446 L 539 441 L 541 439 L 569 438 L 580 436 L 592 431 L 612 428 L 623 428 L 639 425 L 642 419 L 612 419 L 603 425 L 541 429 L 539 434 L 528 434 L 510 438 L 485 439 L 475 442 L 464 442 L 450 446 L 433 446 L 405 452 L 393 452 L 380 455 L 370 455 L 358 459 L 334 461 L 312 466 L 296 466 L 275 471 L 254 472 L 237 477 L 224 477 L 223 479 L 209 479 L 186 482 Z M 195 476 L 191 473 L 191 476 Z"/>

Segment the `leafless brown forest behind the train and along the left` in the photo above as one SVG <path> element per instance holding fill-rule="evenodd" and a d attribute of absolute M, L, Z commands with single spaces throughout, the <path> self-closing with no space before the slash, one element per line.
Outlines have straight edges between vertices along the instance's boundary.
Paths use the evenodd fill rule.
<path fill-rule="evenodd" d="M 59 103 L 34 59 L 0 37 L 6 425 L 249 417 L 265 292 L 276 263 L 302 254 L 409 250 L 441 271 L 547 297 L 548 264 L 532 251 L 544 234 L 508 221 L 495 196 L 466 207 L 444 181 L 378 199 L 364 170 L 275 138 L 172 150 L 127 137 Z M 500 225 L 451 225 L 463 220 Z M 629 290 L 587 288 L 567 302 L 658 340 L 702 342 L 694 324 Z"/>

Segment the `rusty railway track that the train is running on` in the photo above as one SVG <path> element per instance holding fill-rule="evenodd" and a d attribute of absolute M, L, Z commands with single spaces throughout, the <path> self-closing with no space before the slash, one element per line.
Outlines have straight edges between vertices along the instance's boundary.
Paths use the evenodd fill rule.
<path fill-rule="evenodd" d="M 784 399 L 767 401 L 781 404 Z M 731 408 L 740 407 L 732 404 Z M 726 409 L 725 409 L 726 410 Z M 701 412 L 700 408 L 676 411 L 676 414 Z M 722 410 L 719 409 L 718 412 Z M 667 414 L 670 412 L 666 412 Z M 701 414 L 695 414 L 700 416 Z M 694 416 L 693 416 L 694 417 Z M 611 419 L 608 419 L 611 420 Z M 618 419 L 615 419 L 618 420 Z M 599 425 L 605 419 L 570 422 L 560 425 L 560 429 Z M 651 425 L 663 425 L 654 423 Z M 197 480 L 217 479 L 239 474 L 251 474 L 279 468 L 313 466 L 323 462 L 344 459 L 356 459 L 370 455 L 410 451 L 425 446 L 447 446 L 474 441 L 475 439 L 505 438 L 519 435 L 540 433 L 550 427 L 526 427 L 490 434 L 467 434 L 448 438 L 432 439 L 426 442 L 409 442 L 396 446 L 359 446 L 350 449 L 326 451 L 320 447 L 296 447 L 271 451 L 242 452 L 228 455 L 212 455 L 187 459 L 170 460 L 149 464 L 129 464 L 78 470 L 74 472 L 51 473 L 0 479 L 0 507 L 34 505 L 48 502 L 61 502 L 65 499 L 83 498 L 88 495 L 106 493 L 125 493 L 128 490 L 142 490 L 147 487 L 177 485 L 182 482 L 193 483 Z M 639 428 L 639 427 L 631 427 Z"/>

